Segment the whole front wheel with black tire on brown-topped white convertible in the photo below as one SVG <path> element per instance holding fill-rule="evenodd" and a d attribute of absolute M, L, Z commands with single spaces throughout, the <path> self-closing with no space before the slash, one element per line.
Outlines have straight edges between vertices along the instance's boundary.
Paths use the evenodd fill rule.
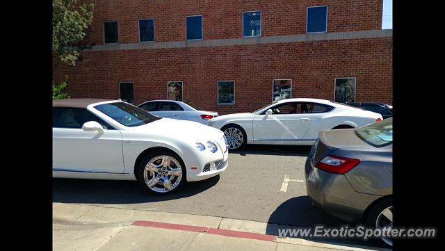
<path fill-rule="evenodd" d="M 166 149 L 145 154 L 138 166 L 138 181 L 153 195 L 175 193 L 186 182 L 186 166 L 175 152 Z"/>

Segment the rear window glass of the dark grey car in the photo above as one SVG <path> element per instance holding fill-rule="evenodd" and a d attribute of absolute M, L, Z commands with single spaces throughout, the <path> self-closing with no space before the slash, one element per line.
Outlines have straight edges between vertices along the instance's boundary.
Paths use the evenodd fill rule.
<path fill-rule="evenodd" d="M 392 144 L 392 118 L 355 129 L 355 134 L 373 147 Z"/>

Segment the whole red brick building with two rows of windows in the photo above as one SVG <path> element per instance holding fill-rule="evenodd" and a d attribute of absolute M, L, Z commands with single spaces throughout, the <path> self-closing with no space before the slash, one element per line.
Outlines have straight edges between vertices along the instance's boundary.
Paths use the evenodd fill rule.
<path fill-rule="evenodd" d="M 382 0 L 86 0 L 94 4 L 71 97 L 180 99 L 220 114 L 312 97 L 392 104 Z"/>

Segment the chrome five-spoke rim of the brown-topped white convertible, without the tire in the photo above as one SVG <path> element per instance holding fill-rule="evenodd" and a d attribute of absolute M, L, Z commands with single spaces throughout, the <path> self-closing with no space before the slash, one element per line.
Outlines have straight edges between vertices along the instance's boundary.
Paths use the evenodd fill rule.
<path fill-rule="evenodd" d="M 182 168 L 172 156 L 156 156 L 144 168 L 144 181 L 157 193 L 172 191 L 181 182 Z"/>

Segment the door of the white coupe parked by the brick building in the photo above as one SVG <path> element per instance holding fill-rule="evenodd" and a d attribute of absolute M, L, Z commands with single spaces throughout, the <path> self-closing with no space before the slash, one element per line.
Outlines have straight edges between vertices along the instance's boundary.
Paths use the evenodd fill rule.
<path fill-rule="evenodd" d="M 295 106 L 295 111 L 292 107 Z M 300 113 L 301 104 L 288 102 L 272 108 L 272 115 L 256 115 L 253 120 L 255 140 L 303 140 L 311 117 L 309 113 Z"/>

